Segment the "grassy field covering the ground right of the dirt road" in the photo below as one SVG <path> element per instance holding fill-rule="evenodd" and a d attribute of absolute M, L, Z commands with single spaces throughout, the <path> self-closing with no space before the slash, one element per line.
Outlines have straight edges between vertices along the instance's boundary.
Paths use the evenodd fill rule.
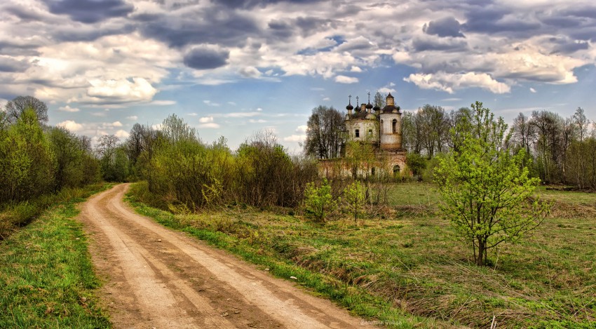
<path fill-rule="evenodd" d="M 522 243 L 491 250 L 489 267 L 475 266 L 440 219 L 431 184 L 395 184 L 390 205 L 358 225 L 348 215 L 322 225 L 289 210 L 171 215 L 133 203 L 389 326 L 595 328 L 596 194 L 537 194 L 553 212 Z"/>

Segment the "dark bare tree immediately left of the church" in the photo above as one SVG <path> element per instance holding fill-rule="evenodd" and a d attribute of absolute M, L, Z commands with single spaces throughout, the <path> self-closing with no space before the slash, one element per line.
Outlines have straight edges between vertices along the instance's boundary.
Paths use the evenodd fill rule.
<path fill-rule="evenodd" d="M 306 123 L 304 152 L 318 159 L 333 159 L 340 156 L 344 142 L 341 133 L 344 118 L 333 107 L 318 106 Z"/>

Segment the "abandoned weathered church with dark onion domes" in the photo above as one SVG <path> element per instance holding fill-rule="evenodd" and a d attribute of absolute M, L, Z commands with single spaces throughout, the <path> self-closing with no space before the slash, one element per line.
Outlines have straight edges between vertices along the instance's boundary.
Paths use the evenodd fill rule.
<path fill-rule="evenodd" d="M 405 149 L 402 149 L 402 112 L 400 107 L 395 105 L 395 98 L 389 93 L 385 99 L 385 106 L 381 108 L 378 104 L 370 104 L 370 93 L 368 103 L 356 106 L 348 96 L 346 106 L 346 117 L 344 119 L 344 158 L 336 160 L 321 161 L 321 171 L 325 176 L 331 175 L 352 175 L 353 177 L 370 177 L 379 173 L 391 173 L 398 177 L 405 174 Z M 358 144 L 356 144 L 358 143 Z M 349 168 L 346 158 L 350 156 L 351 147 L 370 145 L 374 152 L 375 160 L 366 163 L 360 168 Z"/>

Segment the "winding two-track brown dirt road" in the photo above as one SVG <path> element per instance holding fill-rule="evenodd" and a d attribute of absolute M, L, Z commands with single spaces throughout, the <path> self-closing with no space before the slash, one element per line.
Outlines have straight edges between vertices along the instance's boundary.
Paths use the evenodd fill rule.
<path fill-rule="evenodd" d="M 171 231 L 123 203 L 121 184 L 83 204 L 81 221 L 116 328 L 364 328 L 327 300 Z"/>

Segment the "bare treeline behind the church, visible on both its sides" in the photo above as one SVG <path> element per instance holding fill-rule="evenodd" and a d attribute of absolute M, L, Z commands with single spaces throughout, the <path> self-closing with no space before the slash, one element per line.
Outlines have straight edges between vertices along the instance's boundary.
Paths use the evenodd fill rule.
<path fill-rule="evenodd" d="M 402 115 L 402 147 L 414 177 L 432 179 L 436 155 L 454 147 L 459 135 L 456 126 L 470 109 L 447 112 L 442 107 L 424 105 Z M 304 151 L 318 159 L 341 154 L 343 115 L 334 108 L 316 107 L 307 123 Z M 514 152 L 524 149 L 534 177 L 546 184 L 570 184 L 580 189 L 596 189 L 596 132 L 594 123 L 580 107 L 567 118 L 550 111 L 520 113 L 509 127 L 508 143 Z"/>

